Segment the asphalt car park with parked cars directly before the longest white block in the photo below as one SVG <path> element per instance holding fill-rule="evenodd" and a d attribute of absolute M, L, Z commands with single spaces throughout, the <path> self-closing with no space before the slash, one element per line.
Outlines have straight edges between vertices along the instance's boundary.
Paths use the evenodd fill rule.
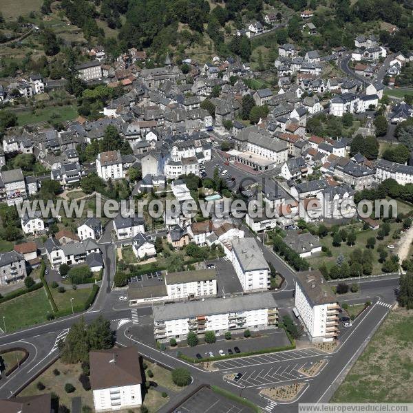
<path fill-rule="evenodd" d="M 231 349 L 233 354 L 235 354 L 235 347 L 239 348 L 241 352 L 252 352 L 264 350 L 266 348 L 288 346 L 290 344 L 286 333 L 282 329 L 260 331 L 260 335 L 263 337 L 250 337 L 244 339 L 242 333 L 239 335 L 233 333 L 232 340 L 218 337 L 218 340 L 215 341 L 215 343 L 199 344 L 195 347 L 174 348 L 173 350 L 170 350 L 170 354 L 177 356 L 178 352 L 181 352 L 188 357 L 195 358 L 196 354 L 200 354 L 201 357 L 209 357 L 209 352 L 212 352 L 216 357 L 220 355 L 219 350 L 223 350 L 225 354 L 229 354 L 228 350 Z"/>

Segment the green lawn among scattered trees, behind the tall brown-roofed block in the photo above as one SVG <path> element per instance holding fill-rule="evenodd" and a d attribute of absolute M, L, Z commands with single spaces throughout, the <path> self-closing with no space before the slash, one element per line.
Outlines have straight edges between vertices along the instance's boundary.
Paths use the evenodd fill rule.
<path fill-rule="evenodd" d="M 321 246 L 326 246 L 327 248 L 330 249 L 332 256 L 328 257 L 326 253 L 319 253 L 319 255 L 315 257 L 308 257 L 306 260 L 310 263 L 310 266 L 312 268 L 319 268 L 321 264 L 326 264 L 327 268 L 330 268 L 334 264 L 337 263 L 337 257 L 340 255 L 340 253 L 343 254 L 344 260 L 348 262 L 348 257 L 352 251 L 356 248 L 366 248 L 366 243 L 368 238 L 370 237 L 377 237 L 377 231 L 372 231 L 372 230 L 366 230 L 363 231 L 363 225 L 361 223 L 357 224 L 352 224 L 350 226 L 343 226 L 340 227 L 340 229 L 346 229 L 346 231 L 349 233 L 350 229 L 354 228 L 354 232 L 357 235 L 357 240 L 356 244 L 354 246 L 348 246 L 346 242 L 341 242 L 341 246 L 332 246 L 332 236 L 330 233 L 324 237 L 320 238 L 320 243 Z M 379 254 L 377 253 L 377 247 L 380 244 L 383 244 L 387 246 L 388 244 L 393 244 L 394 240 L 392 239 L 392 235 L 396 229 L 401 229 L 402 224 L 398 224 L 396 222 L 391 222 L 390 223 L 390 234 L 384 238 L 384 240 L 379 241 L 376 239 L 376 245 L 374 246 L 374 249 L 372 250 L 372 253 L 374 255 L 374 260 L 373 260 L 373 274 L 380 274 L 382 273 L 381 267 L 383 264 L 379 262 Z"/>

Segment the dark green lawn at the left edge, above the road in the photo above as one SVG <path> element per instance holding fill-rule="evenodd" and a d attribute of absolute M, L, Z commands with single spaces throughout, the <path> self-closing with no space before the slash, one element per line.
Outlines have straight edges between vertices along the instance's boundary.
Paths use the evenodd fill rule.
<path fill-rule="evenodd" d="M 6 317 L 8 332 L 43 323 L 43 321 L 46 321 L 48 313 L 52 313 L 52 308 L 44 288 L 39 288 L 39 290 L 32 291 L 32 293 L 21 295 L 0 304 L 0 315 Z M 2 321 L 1 328 L 3 329 Z"/>

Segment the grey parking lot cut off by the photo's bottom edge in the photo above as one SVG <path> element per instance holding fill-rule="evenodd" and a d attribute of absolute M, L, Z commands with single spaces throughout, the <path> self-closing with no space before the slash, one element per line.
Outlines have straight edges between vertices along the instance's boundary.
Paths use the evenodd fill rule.
<path fill-rule="evenodd" d="M 246 407 L 233 400 L 226 399 L 209 390 L 201 389 L 190 399 L 182 403 L 174 413 L 253 413 L 250 407 Z"/>

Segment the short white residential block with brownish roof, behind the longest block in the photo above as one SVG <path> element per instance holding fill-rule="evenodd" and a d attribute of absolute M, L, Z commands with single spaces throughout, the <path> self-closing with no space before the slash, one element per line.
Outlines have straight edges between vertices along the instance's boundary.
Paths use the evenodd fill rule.
<path fill-rule="evenodd" d="M 165 274 L 168 297 L 171 299 L 193 299 L 217 294 L 215 270 L 179 271 Z"/>

